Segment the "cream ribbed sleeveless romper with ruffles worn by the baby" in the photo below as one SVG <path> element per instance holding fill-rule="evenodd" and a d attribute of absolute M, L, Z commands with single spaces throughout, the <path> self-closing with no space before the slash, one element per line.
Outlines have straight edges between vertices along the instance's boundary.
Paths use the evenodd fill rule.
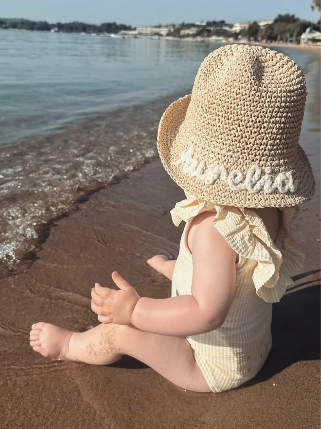
<path fill-rule="evenodd" d="M 204 211 L 216 212 L 214 226 L 239 255 L 236 293 L 223 325 L 211 332 L 187 337 L 196 362 L 213 392 L 240 386 L 264 365 L 272 345 L 272 302 L 293 284 L 291 275 L 303 266 L 301 212 L 281 208 L 282 224 L 273 243 L 255 212 L 217 206 L 189 197 L 172 210 L 176 225 Z M 191 295 L 193 260 L 186 245 L 186 223 L 172 280 L 172 296 Z M 213 261 L 215 263 L 215 261 Z"/>

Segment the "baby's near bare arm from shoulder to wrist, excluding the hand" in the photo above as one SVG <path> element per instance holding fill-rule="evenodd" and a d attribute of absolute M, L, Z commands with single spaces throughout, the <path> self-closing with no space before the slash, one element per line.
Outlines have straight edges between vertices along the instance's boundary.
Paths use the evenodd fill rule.
<path fill-rule="evenodd" d="M 140 298 L 132 314 L 132 324 L 142 331 L 195 335 L 219 328 L 229 312 L 235 293 L 236 254 L 215 229 L 214 214 L 197 217 L 190 244 L 192 295 Z"/>

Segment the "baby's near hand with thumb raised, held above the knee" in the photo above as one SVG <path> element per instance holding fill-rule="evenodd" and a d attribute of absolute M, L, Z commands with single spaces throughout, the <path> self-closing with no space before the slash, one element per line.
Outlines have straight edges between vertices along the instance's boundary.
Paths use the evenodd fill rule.
<path fill-rule="evenodd" d="M 119 290 L 103 288 L 95 283 L 91 289 L 91 310 L 98 314 L 98 320 L 102 323 L 129 325 L 140 296 L 116 271 L 111 278 Z"/>

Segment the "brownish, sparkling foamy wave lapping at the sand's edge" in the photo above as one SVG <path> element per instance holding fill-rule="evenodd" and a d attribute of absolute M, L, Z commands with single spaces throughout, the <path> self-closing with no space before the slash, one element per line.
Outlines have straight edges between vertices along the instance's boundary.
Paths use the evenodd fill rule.
<path fill-rule="evenodd" d="M 154 159 L 161 114 L 182 95 L 90 117 L 56 134 L 0 147 L 2 275 L 18 270 L 39 246 L 47 223 L 75 210 L 82 195 Z"/>

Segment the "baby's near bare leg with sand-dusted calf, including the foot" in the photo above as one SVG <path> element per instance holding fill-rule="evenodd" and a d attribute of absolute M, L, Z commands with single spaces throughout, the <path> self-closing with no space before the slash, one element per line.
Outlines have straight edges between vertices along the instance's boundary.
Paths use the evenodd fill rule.
<path fill-rule="evenodd" d="M 128 354 L 183 389 L 211 391 L 186 338 L 114 324 L 101 324 L 86 332 L 71 332 L 40 322 L 33 325 L 30 339 L 35 351 L 54 359 L 108 365 Z"/>

